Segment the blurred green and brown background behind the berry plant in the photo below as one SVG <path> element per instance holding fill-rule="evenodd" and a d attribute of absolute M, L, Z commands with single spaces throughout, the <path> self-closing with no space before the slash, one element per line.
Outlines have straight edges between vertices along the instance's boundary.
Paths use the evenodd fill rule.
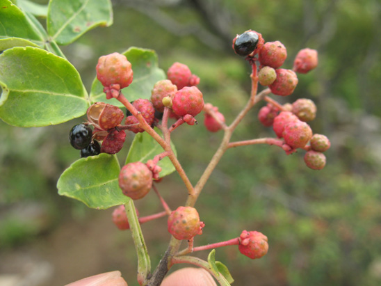
<path fill-rule="evenodd" d="M 197 202 L 206 227 L 195 245 L 232 239 L 242 230 L 268 236 L 268 255 L 261 260 L 250 260 L 235 246 L 217 250 L 216 259 L 232 272 L 234 285 L 380 285 L 380 1 L 113 4 L 113 26 L 63 47 L 88 90 L 99 56 L 131 46 L 154 49 L 165 71 L 175 61 L 187 64 L 201 79 L 205 102 L 218 106 L 228 123 L 250 93 L 250 66 L 231 48 L 237 33 L 252 29 L 266 41 L 281 41 L 288 53 L 285 68 L 292 67 L 299 49 L 318 50 L 318 67 L 299 75 L 295 93 L 273 98 L 314 100 L 318 113 L 311 127 L 332 143 L 327 166 L 310 170 L 304 152 L 286 156 L 267 145 L 228 150 Z M 275 136 L 257 120 L 263 105 L 250 111 L 234 141 Z M 30 129 L 0 122 L 0 281 L 22 277 L 35 283 L 28 285 L 64 285 L 119 269 L 129 285 L 137 285 L 132 240 L 113 225 L 112 209 L 87 209 L 57 194 L 60 173 L 79 158 L 68 133 L 83 120 Z M 202 123 L 203 116 L 198 120 Z M 172 135 L 194 184 L 221 138 L 202 124 L 182 126 Z M 172 209 L 184 204 L 186 189 L 177 175 L 165 177 L 158 187 Z M 140 215 L 161 211 L 154 193 L 137 206 Z M 166 221 L 142 228 L 155 267 L 170 238 Z"/>

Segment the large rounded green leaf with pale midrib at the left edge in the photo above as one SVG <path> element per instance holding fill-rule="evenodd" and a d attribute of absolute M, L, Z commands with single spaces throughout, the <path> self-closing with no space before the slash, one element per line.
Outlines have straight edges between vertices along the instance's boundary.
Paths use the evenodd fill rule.
<path fill-rule="evenodd" d="M 83 116 L 88 96 L 71 63 L 43 49 L 14 47 L 0 55 L 0 118 L 10 125 L 56 125 Z"/>

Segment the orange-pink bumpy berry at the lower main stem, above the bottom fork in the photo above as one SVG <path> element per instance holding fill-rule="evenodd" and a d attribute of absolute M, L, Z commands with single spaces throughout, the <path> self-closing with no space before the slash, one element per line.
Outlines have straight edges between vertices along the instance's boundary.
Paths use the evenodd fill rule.
<path fill-rule="evenodd" d="M 178 207 L 168 217 L 168 232 L 176 239 L 191 239 L 202 235 L 204 223 L 194 207 Z"/>

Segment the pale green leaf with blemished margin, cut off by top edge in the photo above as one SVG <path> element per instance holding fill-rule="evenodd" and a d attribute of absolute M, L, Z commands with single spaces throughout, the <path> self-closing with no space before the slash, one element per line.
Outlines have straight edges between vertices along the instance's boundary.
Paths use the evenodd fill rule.
<path fill-rule="evenodd" d="M 58 45 L 74 42 L 96 26 L 113 24 L 110 0 L 51 0 L 47 31 Z"/>

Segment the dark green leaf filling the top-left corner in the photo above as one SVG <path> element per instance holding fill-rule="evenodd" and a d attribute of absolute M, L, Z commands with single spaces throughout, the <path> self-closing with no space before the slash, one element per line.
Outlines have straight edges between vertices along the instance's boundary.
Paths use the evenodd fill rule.
<path fill-rule="evenodd" d="M 0 40 L 2 45 L 8 39 L 22 38 L 43 47 L 44 35 L 36 29 L 25 13 L 9 0 L 0 0 Z M 24 42 L 25 43 L 25 42 Z"/>

